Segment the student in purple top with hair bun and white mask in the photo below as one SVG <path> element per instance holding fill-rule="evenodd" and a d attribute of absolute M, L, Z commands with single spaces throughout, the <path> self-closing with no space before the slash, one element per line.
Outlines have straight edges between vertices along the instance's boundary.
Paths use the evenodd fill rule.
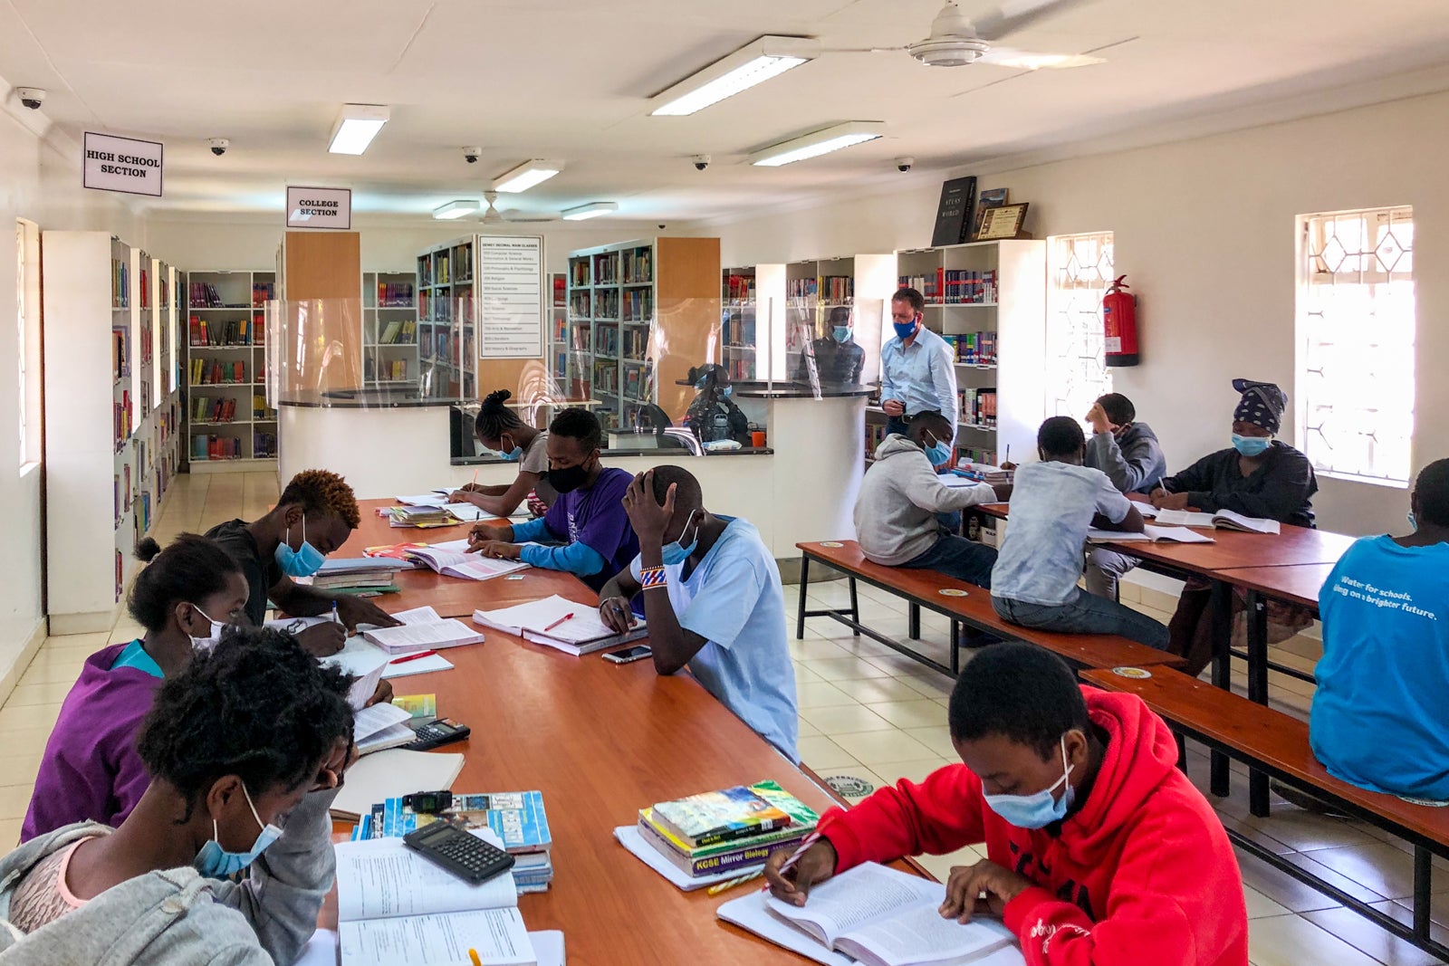
<path fill-rule="evenodd" d="M 165 550 L 148 537 L 136 556 L 149 563 L 130 585 L 126 610 L 146 633 L 85 659 L 45 743 L 20 841 L 77 821 L 119 826 L 130 814 L 151 784 L 136 731 L 161 681 L 246 607 L 241 568 L 206 537 L 183 533 Z"/>

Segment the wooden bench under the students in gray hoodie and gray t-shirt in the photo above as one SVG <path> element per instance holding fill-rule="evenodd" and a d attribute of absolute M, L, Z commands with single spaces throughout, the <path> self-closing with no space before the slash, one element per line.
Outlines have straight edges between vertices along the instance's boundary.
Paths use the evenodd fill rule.
<path fill-rule="evenodd" d="M 961 671 L 961 626 L 978 631 L 1024 640 L 1061 655 L 1078 668 L 1117 668 L 1122 665 L 1169 665 L 1181 666 L 1182 659 L 1146 644 L 1139 644 L 1114 634 L 1062 634 L 1049 630 L 1019 627 L 1001 620 L 991 607 L 991 591 L 975 584 L 966 584 L 935 571 L 907 569 L 871 563 L 861 553 L 855 540 L 827 540 L 824 543 L 797 543 L 800 549 L 800 610 L 796 620 L 796 637 L 806 633 L 807 617 L 830 617 L 856 634 L 865 634 L 913 660 L 956 676 Z M 849 610 L 807 610 L 806 594 L 810 588 L 810 563 L 820 562 L 846 575 L 851 592 Z M 881 634 L 861 623 L 861 608 L 856 598 L 856 581 L 878 587 L 911 605 L 911 637 L 919 636 L 919 613 L 926 608 L 951 620 L 951 665 L 942 665 L 909 646 Z"/>

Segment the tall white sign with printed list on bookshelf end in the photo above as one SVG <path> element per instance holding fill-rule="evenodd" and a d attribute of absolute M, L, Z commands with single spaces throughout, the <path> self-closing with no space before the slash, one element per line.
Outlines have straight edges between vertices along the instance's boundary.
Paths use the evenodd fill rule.
<path fill-rule="evenodd" d="M 478 236 L 478 358 L 543 358 L 543 239 Z"/>

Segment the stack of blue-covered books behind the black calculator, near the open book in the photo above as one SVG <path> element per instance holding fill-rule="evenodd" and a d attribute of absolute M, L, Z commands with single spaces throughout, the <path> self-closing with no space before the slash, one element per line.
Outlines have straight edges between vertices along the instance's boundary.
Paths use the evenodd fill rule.
<path fill-rule="evenodd" d="M 554 836 L 543 811 L 543 792 L 454 795 L 452 805 L 440 815 L 419 815 L 406 808 L 401 798 L 388 798 L 362 815 L 352 839 L 401 837 L 439 820 L 462 828 L 491 828 L 514 857 L 513 881 L 519 895 L 548 892 L 554 882 Z"/>

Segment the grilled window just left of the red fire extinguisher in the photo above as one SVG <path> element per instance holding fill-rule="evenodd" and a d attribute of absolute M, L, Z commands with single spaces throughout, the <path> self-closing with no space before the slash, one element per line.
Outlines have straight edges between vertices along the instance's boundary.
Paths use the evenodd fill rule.
<path fill-rule="evenodd" d="M 1046 410 L 1081 419 L 1111 392 L 1101 326 L 1101 297 L 1114 278 L 1111 232 L 1056 235 L 1048 246 Z"/>

